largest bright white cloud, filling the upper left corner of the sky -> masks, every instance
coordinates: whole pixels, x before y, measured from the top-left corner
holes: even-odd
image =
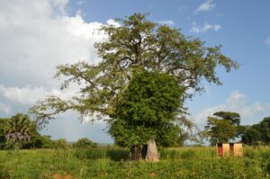
[[[15,3],[16,2],[16,3]],[[0,76],[2,85],[56,85],[59,64],[79,60],[97,62],[94,42],[100,22],[58,13],[67,1],[25,0],[0,2]]]

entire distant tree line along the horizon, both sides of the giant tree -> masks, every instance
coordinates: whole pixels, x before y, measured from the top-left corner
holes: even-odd
[[[208,117],[207,125],[200,135],[208,139],[211,145],[234,139],[247,145],[270,144],[270,116],[254,125],[240,125],[240,119],[238,112],[215,112]],[[184,130],[174,132],[174,135],[166,136],[174,141],[166,147],[183,146],[187,139],[198,142]],[[36,123],[23,113],[17,113],[11,118],[0,118],[0,149],[97,147],[97,143],[87,138],[68,144],[66,139],[52,140],[50,136],[40,135]]]

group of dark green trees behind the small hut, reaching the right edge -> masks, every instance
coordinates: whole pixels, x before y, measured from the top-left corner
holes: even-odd
[[[215,112],[202,131],[211,145],[234,139],[247,145],[270,144],[270,116],[254,125],[240,125],[237,112]]]

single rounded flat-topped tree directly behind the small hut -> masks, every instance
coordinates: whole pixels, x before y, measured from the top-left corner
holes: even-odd
[[[238,137],[240,115],[237,112],[215,112],[216,117],[208,117],[204,127],[205,134],[210,138],[211,145],[226,143]]]

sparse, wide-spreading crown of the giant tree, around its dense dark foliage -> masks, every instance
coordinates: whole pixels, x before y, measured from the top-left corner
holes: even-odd
[[[186,97],[192,96],[188,93],[189,89],[195,92],[202,91],[200,84],[202,79],[216,85],[221,84],[215,73],[216,67],[224,67],[226,72],[229,72],[231,68],[238,68],[237,62],[221,53],[220,46],[206,47],[202,40],[185,37],[178,29],[150,22],[144,14],[134,13],[115,21],[119,23],[119,26],[103,26],[100,31],[104,32],[107,38],[94,45],[99,58],[102,59],[101,62],[90,64],[83,61],[57,67],[55,77],[64,77],[61,89],[66,89],[70,84],[76,83],[81,87],[77,93],[79,95],[75,95],[69,101],[62,100],[58,96],[48,96],[45,100],[36,103],[30,112],[35,114],[39,123],[53,119],[55,114],[60,112],[75,110],[82,116],[94,115],[99,119],[105,119],[108,125],[111,125],[113,135],[114,126],[118,126],[119,123],[121,126],[126,126],[125,122],[127,122],[121,120],[122,116],[126,115],[119,109],[121,99],[127,100],[122,103],[128,103],[138,98],[138,96],[131,97],[134,92],[130,93],[129,87],[132,86],[130,82],[133,76],[139,71],[166,74],[174,78],[174,81],[168,80],[167,83],[176,83],[181,87],[183,102]],[[148,83],[154,83],[156,78],[151,80],[153,82]],[[166,96],[161,96],[161,98],[162,102]],[[178,100],[178,95],[175,100]],[[179,101],[179,103],[182,102]],[[150,100],[149,103],[153,102]],[[171,104],[167,105],[175,105],[173,101],[169,103]],[[182,111],[177,111],[180,114],[184,111],[183,105],[178,107],[182,108]],[[158,105],[152,108],[158,108]],[[127,109],[134,110],[135,106]],[[153,125],[157,125],[155,124],[157,119],[168,120],[174,117],[160,117],[158,116],[160,114],[153,113],[149,106],[145,109],[140,107],[139,110],[127,116],[134,118],[132,121],[136,121],[139,118],[145,119],[148,115],[147,123],[152,121]],[[143,132],[139,133],[137,128],[129,130],[134,132],[134,137],[135,134],[143,134]],[[167,129],[165,126],[160,126],[160,130]],[[149,132],[148,135],[154,134]],[[116,140],[121,141],[121,139]]]

